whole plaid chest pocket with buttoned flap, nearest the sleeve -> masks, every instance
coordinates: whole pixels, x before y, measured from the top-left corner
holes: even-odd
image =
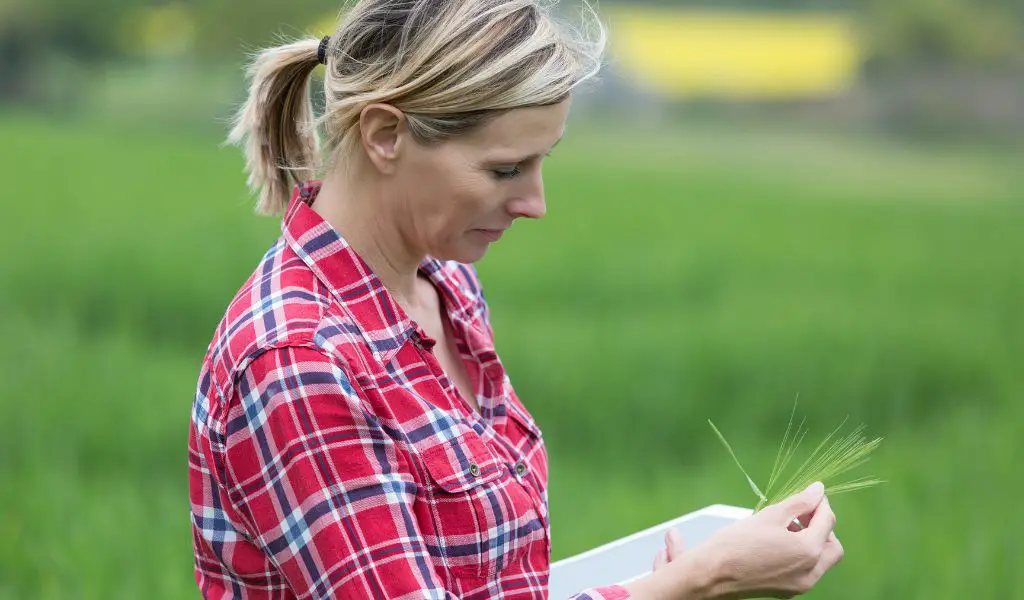
[[[460,577],[495,578],[544,540],[529,495],[512,469],[467,429],[421,453],[431,555]]]

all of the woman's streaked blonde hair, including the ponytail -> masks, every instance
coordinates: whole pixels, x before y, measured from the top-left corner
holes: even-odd
[[[243,148],[256,211],[275,214],[291,187],[345,156],[359,140],[359,115],[386,102],[423,143],[483,124],[500,112],[557,103],[597,75],[606,31],[558,22],[543,0],[360,0],[343,13],[326,48],[324,113],[315,119],[310,79],[319,39],[260,51],[249,97],[227,141]],[[585,15],[594,16],[588,4]],[[323,136],[323,148],[322,138]]]

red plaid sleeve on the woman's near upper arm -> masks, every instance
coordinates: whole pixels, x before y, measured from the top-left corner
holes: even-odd
[[[238,400],[228,492],[299,599],[454,597],[417,530],[408,459],[335,360],[303,347],[265,352]]]

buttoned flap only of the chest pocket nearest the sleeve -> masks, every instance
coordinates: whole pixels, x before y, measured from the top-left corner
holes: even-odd
[[[502,475],[499,461],[474,431],[423,451],[431,479],[449,494],[467,491]]]

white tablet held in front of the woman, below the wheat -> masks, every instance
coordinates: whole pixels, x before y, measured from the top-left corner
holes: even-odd
[[[654,556],[665,548],[670,527],[682,533],[686,548],[694,548],[721,527],[753,513],[716,504],[559,560],[551,565],[548,597],[564,600],[586,588],[625,584],[646,575]]]

